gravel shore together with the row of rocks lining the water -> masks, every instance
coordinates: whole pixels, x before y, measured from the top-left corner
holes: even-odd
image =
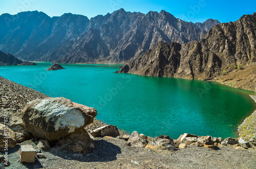
[[[28,102],[48,98],[45,94],[2,77],[0,77],[0,94],[1,114],[7,111],[10,115],[10,123],[13,124],[19,122],[18,118],[22,115],[22,109]],[[1,117],[1,123],[2,119]],[[92,133],[93,130],[105,125],[99,120],[94,120],[84,129]],[[38,140],[20,140],[15,148],[8,149],[10,165],[6,168],[65,168],[71,166],[72,168],[255,168],[256,166],[255,147],[248,150],[238,147],[237,139],[226,138],[222,141],[221,138],[184,134],[185,136],[181,135],[177,140],[173,140],[166,136],[150,138],[136,132],[130,136],[120,130],[119,134],[120,136],[116,138],[92,137],[95,147],[88,154],[75,153],[57,145],[51,145],[50,150],[42,151],[45,158],[36,158],[35,163],[20,163],[17,160],[20,146],[30,144],[38,149]],[[130,141],[127,141],[128,138]],[[156,144],[156,139],[169,142],[167,145],[172,145],[171,142],[174,142],[176,150],[170,151],[170,147],[173,146],[168,146],[166,150],[164,146],[152,145],[151,141]],[[251,142],[254,143],[254,140]],[[225,146],[225,143],[229,146]],[[186,148],[183,149],[183,146]],[[213,148],[215,150],[212,150]]]

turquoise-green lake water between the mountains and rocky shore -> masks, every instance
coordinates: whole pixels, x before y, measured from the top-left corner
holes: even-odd
[[[183,133],[235,137],[254,110],[247,90],[217,83],[115,74],[119,65],[0,66],[0,76],[51,97],[63,96],[98,111],[97,119],[148,136]]]

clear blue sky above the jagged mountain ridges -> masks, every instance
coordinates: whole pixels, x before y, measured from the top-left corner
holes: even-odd
[[[208,18],[221,22],[236,21],[244,14],[256,12],[255,0],[219,1],[219,0],[0,0],[0,15],[17,14],[21,11],[42,11],[49,16],[63,13],[81,14],[89,19],[97,15],[112,13],[120,8],[130,12],[147,13],[165,10],[185,21],[203,22]]]

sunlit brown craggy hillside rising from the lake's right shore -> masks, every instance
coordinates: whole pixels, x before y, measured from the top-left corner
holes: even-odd
[[[256,90],[256,13],[212,27],[200,41],[159,42],[118,72],[228,81]]]

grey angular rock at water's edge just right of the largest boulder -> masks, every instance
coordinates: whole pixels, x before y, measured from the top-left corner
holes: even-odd
[[[117,137],[119,136],[119,131],[116,126],[106,125],[93,130],[91,132],[91,135],[93,137],[104,137],[104,136]]]

